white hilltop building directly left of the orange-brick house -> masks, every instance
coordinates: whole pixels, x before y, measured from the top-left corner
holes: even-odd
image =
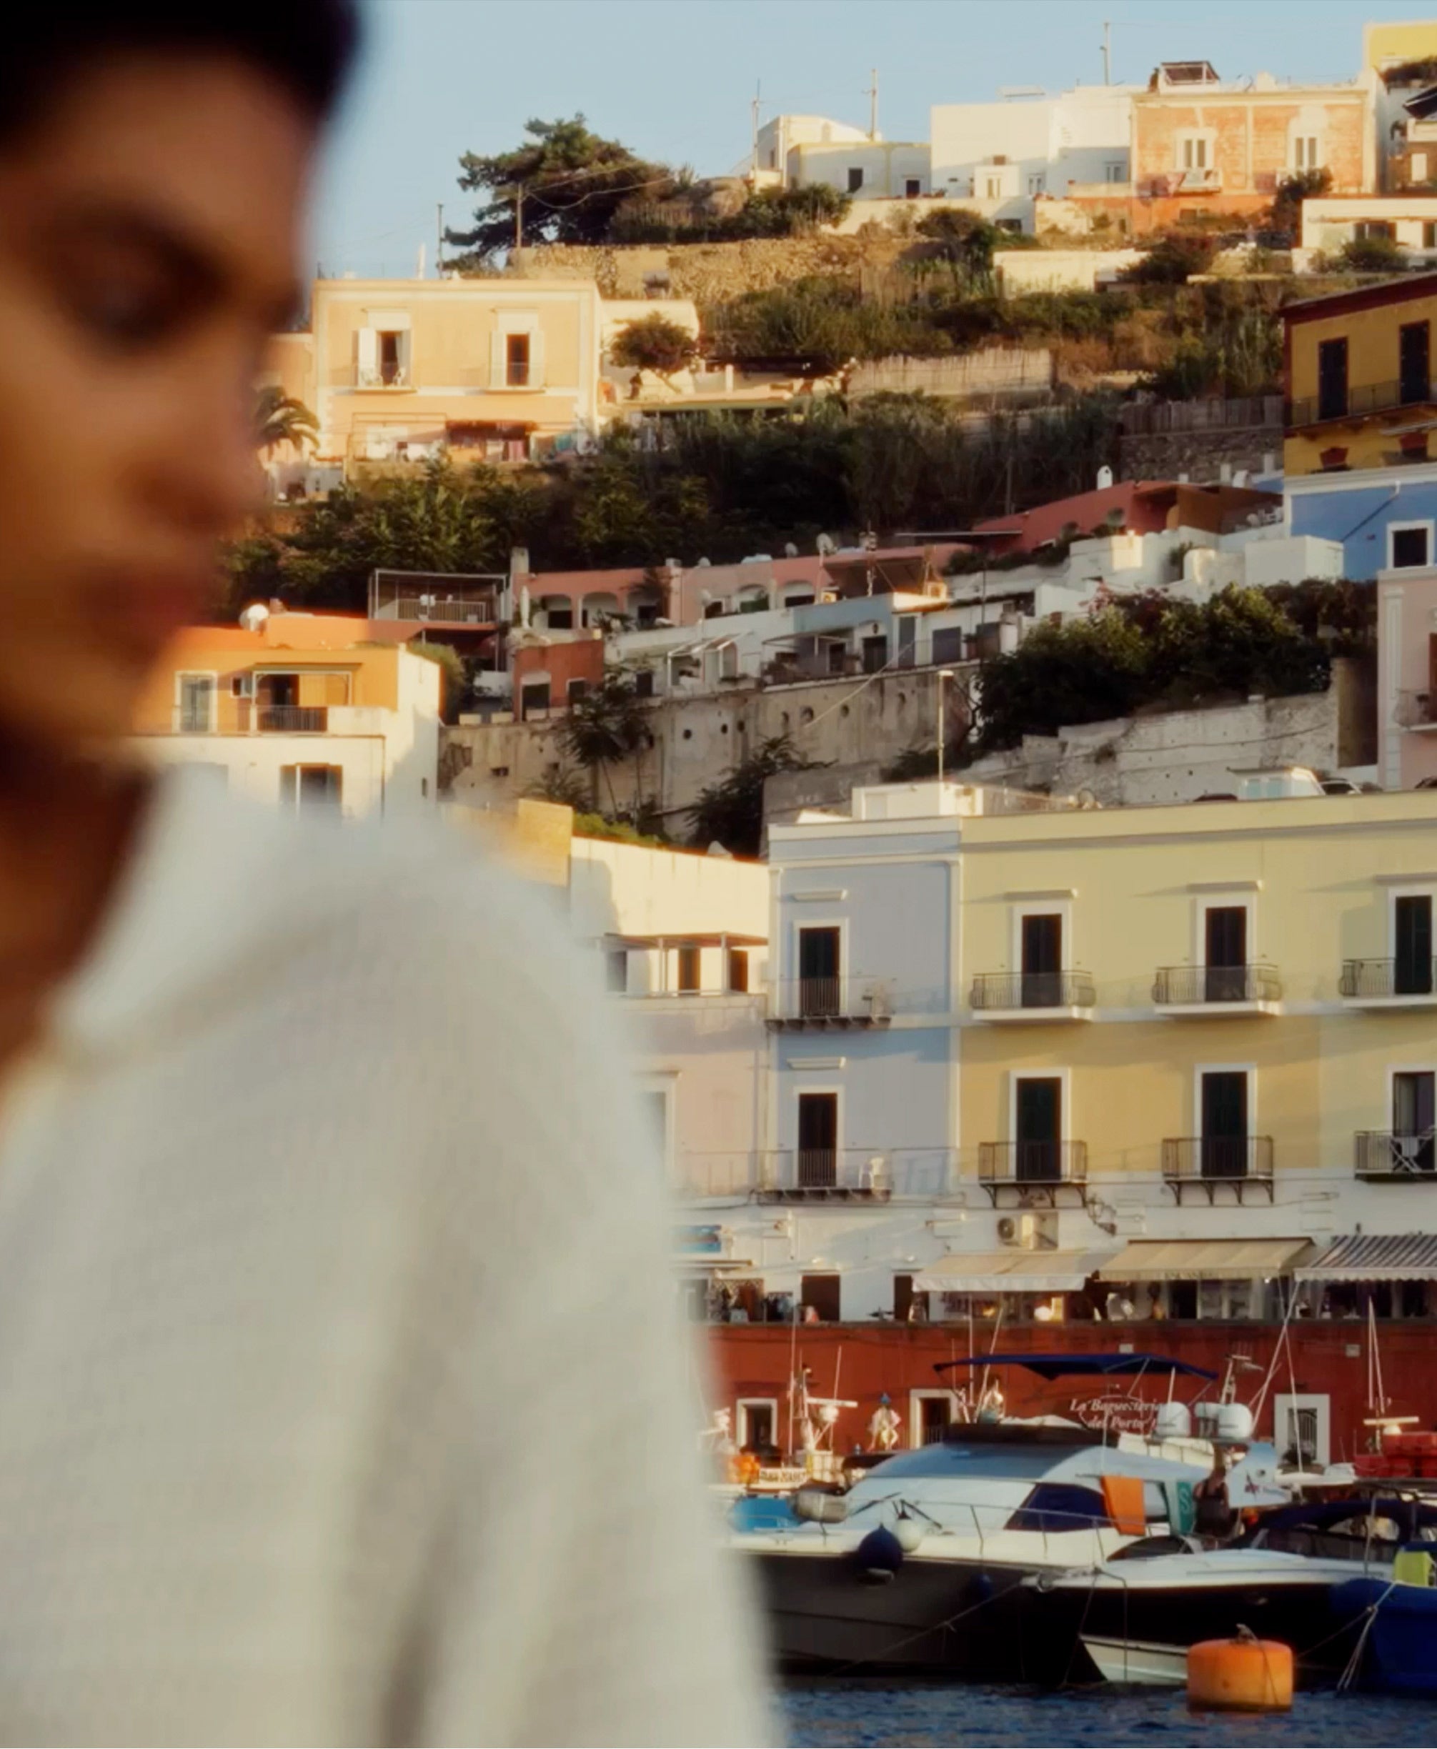
[[[996,103],[935,103],[933,192],[977,201],[1005,224],[1033,229],[1034,198],[1125,184],[1138,86],[1075,86],[1048,96],[1013,91]]]

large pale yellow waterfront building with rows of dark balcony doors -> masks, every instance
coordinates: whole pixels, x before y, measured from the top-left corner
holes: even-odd
[[[964,820],[959,1177],[1139,1240],[1430,1226],[1433,827],[1430,791]]]

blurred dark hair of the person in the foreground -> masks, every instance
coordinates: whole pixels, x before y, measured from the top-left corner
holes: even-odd
[[[5,26],[0,142],[112,54],[198,51],[271,75],[320,121],[359,45],[355,0],[37,0]]]

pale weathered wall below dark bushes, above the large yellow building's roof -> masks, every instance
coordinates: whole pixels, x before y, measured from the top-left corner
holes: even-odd
[[[1300,698],[1085,722],[1054,736],[1027,735],[1022,749],[989,754],[968,766],[963,778],[1066,796],[1087,791],[1104,806],[1195,801],[1232,792],[1234,770],[1278,764],[1337,770],[1344,763],[1339,750],[1363,750],[1360,742],[1344,743],[1342,700],[1344,693],[1334,686]],[[1362,700],[1351,700],[1349,710],[1360,712]]]

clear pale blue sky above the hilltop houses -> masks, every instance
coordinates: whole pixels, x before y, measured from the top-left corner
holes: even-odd
[[[998,86],[1113,79],[1209,59],[1223,77],[1349,79],[1365,17],[1426,5],[1360,0],[368,0],[369,44],[317,189],[312,250],[326,273],[411,275],[434,264],[473,201],[460,152],[502,152],[525,121],[583,110],[662,163],[723,175],[744,159],[749,105],[863,124],[879,70],[879,128],[926,140],[931,103]]]

